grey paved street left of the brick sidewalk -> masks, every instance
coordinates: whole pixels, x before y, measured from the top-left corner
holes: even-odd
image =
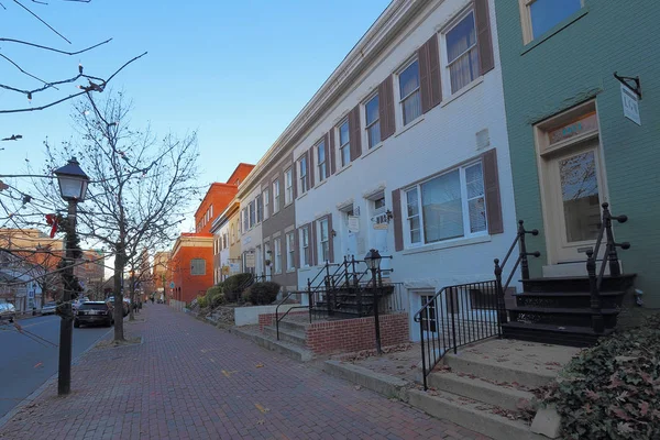
[[[59,343],[59,321],[50,315],[19,320],[28,332]],[[74,359],[108,332],[108,328],[74,329]],[[58,348],[19,333],[13,324],[0,324],[0,418],[57,373]]]

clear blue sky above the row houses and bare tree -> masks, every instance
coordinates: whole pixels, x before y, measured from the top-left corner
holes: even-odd
[[[25,70],[53,81],[77,74],[107,77],[124,62],[146,57],[112,82],[133,99],[133,125],[151,122],[158,134],[198,130],[200,183],[226,180],[239,162],[256,163],[353,45],[388,0],[50,0],[21,2],[73,42],[67,44],[12,0],[1,0],[0,37],[75,51],[103,41],[106,46],[76,56],[0,43],[0,53]],[[0,82],[35,88],[38,82],[0,59]],[[36,107],[76,92],[63,86],[35,95]],[[29,106],[0,89],[0,109]],[[70,105],[14,116],[0,114],[0,174],[22,172],[25,158],[42,163],[46,136],[74,134]]]

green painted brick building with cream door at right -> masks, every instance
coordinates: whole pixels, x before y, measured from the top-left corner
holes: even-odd
[[[623,272],[660,308],[660,2],[495,4],[516,213],[541,231],[531,276],[585,275],[607,201],[628,216]],[[615,73],[639,77],[637,103]]]

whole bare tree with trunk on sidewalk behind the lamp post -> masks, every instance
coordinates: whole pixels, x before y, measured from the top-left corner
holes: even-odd
[[[161,248],[175,238],[189,200],[199,194],[197,135],[157,140],[148,130],[130,127],[131,103],[123,94],[112,94],[99,105],[90,94],[87,98],[75,105],[79,140],[46,142],[44,174],[75,155],[91,179],[78,211],[78,233],[82,240],[102,242],[114,255],[114,340],[121,341],[125,270],[144,248]],[[42,194],[57,194],[53,179],[42,182]]]

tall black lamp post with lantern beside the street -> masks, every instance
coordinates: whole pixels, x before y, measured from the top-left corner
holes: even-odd
[[[76,234],[76,212],[78,202],[85,200],[89,177],[80,169],[76,157],[53,172],[59,183],[59,195],[68,202],[68,218],[66,230],[66,256],[67,267],[63,271],[64,293],[62,296],[62,322],[59,323],[59,371],[57,377],[57,394],[67,395],[72,388],[72,344],[74,314],[72,310],[72,287],[74,279],[74,249],[72,240]]]

